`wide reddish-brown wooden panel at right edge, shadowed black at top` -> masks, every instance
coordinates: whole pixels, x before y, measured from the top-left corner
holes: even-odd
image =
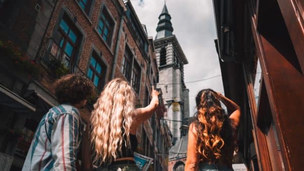
[[[299,136],[299,130],[304,129],[304,77],[299,56],[277,2],[260,2],[259,10],[257,31],[263,47],[260,61],[285,169],[301,170],[304,137]]]

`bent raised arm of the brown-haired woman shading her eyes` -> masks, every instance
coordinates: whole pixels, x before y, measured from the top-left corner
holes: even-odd
[[[217,94],[219,96],[220,101],[223,102],[223,104],[227,107],[227,109],[232,111],[229,118],[231,118],[234,121],[234,123],[236,124],[236,126],[238,126],[239,122],[240,122],[240,117],[241,117],[240,106],[237,105],[234,101],[226,98],[222,94],[220,94],[220,93],[217,93]]]

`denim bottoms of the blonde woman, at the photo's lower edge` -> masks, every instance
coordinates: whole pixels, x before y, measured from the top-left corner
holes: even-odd
[[[108,166],[101,166],[96,171],[140,171],[135,163],[112,163]]]

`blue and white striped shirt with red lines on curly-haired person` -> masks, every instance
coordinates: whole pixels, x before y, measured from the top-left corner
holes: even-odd
[[[41,119],[22,170],[76,170],[85,125],[71,105],[51,108]]]

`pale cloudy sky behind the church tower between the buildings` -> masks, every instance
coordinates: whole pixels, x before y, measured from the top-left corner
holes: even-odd
[[[156,36],[158,17],[164,7],[164,0],[131,0],[142,24],[146,25],[148,36]],[[195,113],[195,96],[202,89],[213,89],[223,94],[219,60],[215,49],[215,20],[212,1],[167,0],[171,15],[173,34],[188,60],[184,65],[184,81],[189,89],[190,115]],[[214,77],[216,76],[216,77]]]

